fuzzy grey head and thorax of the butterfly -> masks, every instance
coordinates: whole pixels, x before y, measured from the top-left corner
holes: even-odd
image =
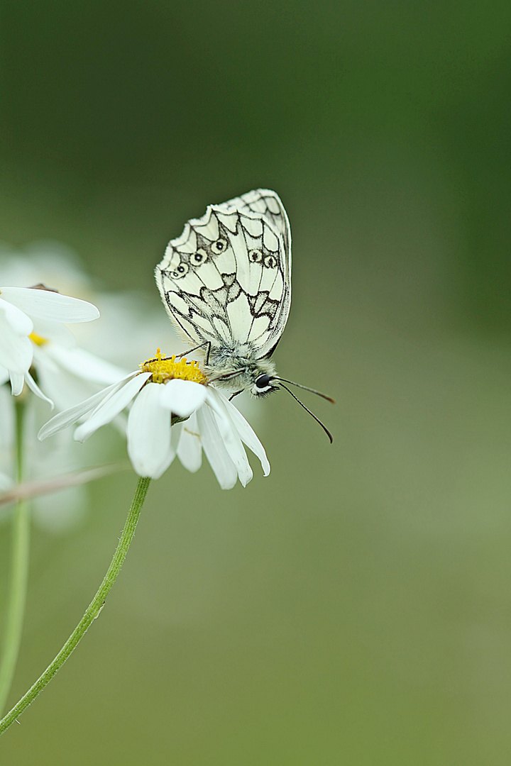
[[[211,348],[205,374],[215,385],[250,391],[254,396],[277,390],[270,380],[275,375],[274,362],[270,358],[257,359],[255,349],[247,343]]]

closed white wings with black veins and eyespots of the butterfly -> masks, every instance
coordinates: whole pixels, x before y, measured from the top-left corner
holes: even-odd
[[[263,208],[263,209],[254,209]],[[250,191],[185,224],[156,267],[156,282],[182,334],[213,347],[266,356],[290,309],[290,227],[274,191]]]

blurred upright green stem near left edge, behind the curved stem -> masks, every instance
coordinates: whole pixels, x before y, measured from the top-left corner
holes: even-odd
[[[23,419],[25,401],[16,399],[16,478],[23,479]],[[25,500],[19,500],[12,519],[11,571],[5,615],[4,646],[0,661],[0,715],[5,708],[8,693],[18,662],[21,633],[27,602],[28,561],[30,554],[30,509]]]

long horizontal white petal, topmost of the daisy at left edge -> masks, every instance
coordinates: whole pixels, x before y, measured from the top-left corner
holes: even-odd
[[[90,322],[100,312],[86,300],[71,298],[50,290],[35,290],[33,287],[2,287],[2,296],[28,316],[51,319],[52,322]]]

